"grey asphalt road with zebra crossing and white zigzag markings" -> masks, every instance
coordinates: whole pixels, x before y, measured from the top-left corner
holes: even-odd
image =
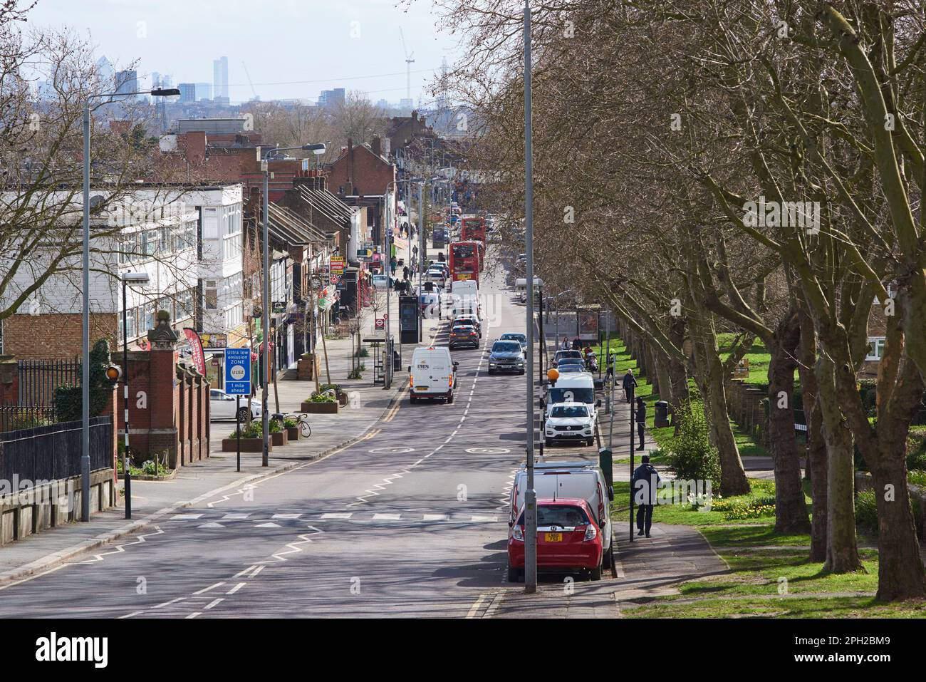
[[[348,448],[0,587],[0,616],[462,617],[519,590],[504,583],[506,503],[525,379],[490,377],[484,349],[525,312],[501,275],[482,289],[488,328],[482,348],[454,351],[454,404],[406,390]]]

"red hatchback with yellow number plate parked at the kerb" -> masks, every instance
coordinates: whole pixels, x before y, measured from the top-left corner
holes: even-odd
[[[601,580],[601,529],[584,499],[537,500],[537,568],[585,569]],[[524,508],[508,535],[508,582],[524,577]]]

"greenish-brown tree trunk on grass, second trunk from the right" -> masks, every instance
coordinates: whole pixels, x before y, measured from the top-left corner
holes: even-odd
[[[858,558],[855,512],[855,462],[852,433],[843,423],[843,413],[836,396],[832,360],[821,356],[817,361],[823,437],[827,450],[827,526],[826,562],[830,573],[853,573],[864,570]]]

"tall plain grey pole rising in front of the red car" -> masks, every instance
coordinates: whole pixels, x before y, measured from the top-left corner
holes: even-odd
[[[524,249],[533,297],[533,168],[531,141],[531,2],[524,0]],[[527,307],[527,489],[524,491],[524,591],[537,591],[537,491],[533,488],[533,300]]]

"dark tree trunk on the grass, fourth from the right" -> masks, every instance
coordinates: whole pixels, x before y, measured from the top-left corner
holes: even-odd
[[[778,325],[769,350],[769,447],[775,470],[775,532],[807,533],[810,521],[797,459],[795,410],[795,348],[800,322],[793,309]]]

